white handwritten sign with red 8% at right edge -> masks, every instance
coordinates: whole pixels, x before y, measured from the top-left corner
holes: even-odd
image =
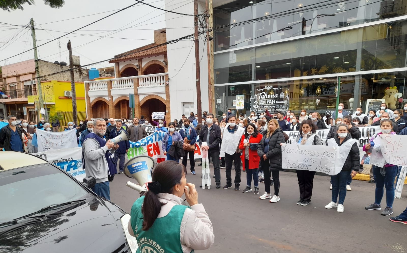
[[[381,134],[380,142],[382,155],[388,164],[407,166],[407,135]]]

